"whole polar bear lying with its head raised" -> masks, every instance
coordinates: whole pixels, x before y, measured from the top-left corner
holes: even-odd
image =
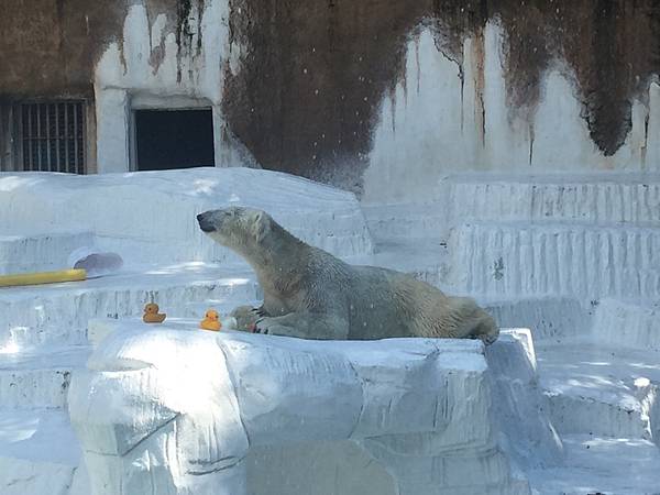
[[[353,266],[314,248],[266,212],[231,207],[197,216],[200,229],[243,256],[263,288],[258,309],[233,311],[243,330],[304,339],[471,338],[499,330],[469,298],[449,297],[415,277]]]

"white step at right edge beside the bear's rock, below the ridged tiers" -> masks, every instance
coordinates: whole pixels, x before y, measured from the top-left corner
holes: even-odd
[[[660,444],[660,352],[584,338],[540,341],[536,350],[540,384],[560,435]]]

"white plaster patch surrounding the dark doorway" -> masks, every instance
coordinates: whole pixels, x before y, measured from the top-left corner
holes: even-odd
[[[180,47],[176,34],[165,30],[167,23],[175,22],[164,13],[150,19],[143,4],[132,4],[123,35],[108,45],[95,68],[97,161],[101,173],[129,172],[135,108],[145,108],[145,101],[151,108],[178,108],[177,99],[193,102],[189,107],[212,109],[216,165],[254,164],[222,113],[226,70],[238,70],[235,58],[241,48],[233,45],[230,50],[229,2],[191,3],[188,19],[182,22],[188,22],[194,32],[182,36]]]

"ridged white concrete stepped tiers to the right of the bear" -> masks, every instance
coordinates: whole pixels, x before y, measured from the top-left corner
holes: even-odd
[[[532,488],[660,493],[660,176],[457,175],[438,197],[366,209],[376,252],[435,244],[426,279],[534,329],[565,460]]]

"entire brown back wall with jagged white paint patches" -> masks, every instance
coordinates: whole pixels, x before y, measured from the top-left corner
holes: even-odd
[[[370,200],[419,199],[452,170],[660,168],[654,0],[3,8],[0,98],[94,95],[101,169],[124,166],[130,122],[112,108],[136,97],[211,105],[219,163]]]

